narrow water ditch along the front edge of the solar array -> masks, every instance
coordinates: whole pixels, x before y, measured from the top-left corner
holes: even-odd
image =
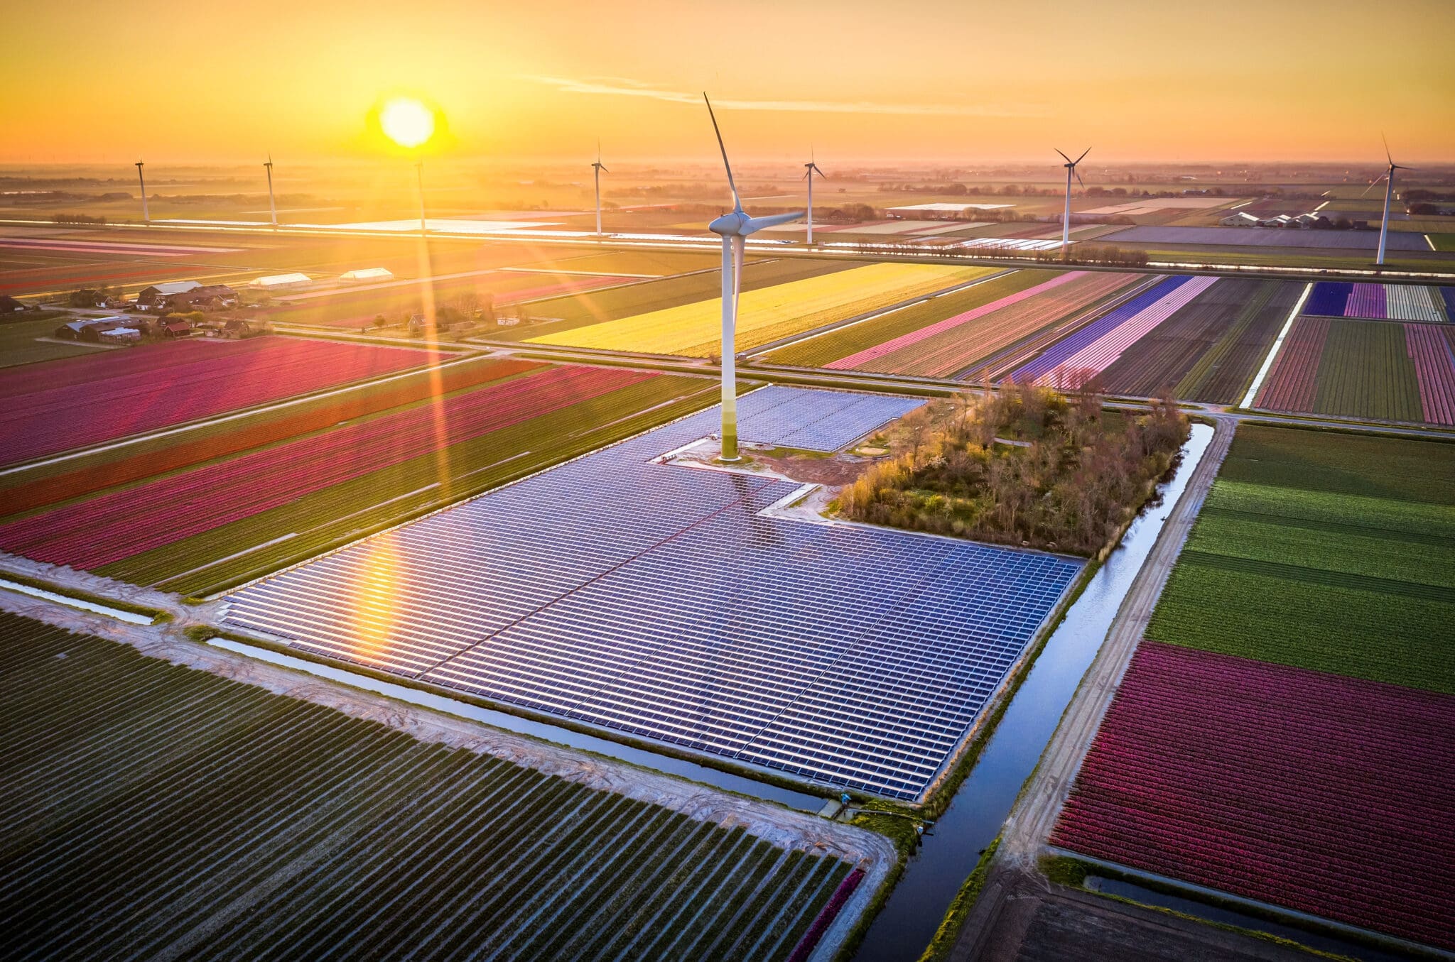
[[[672,759],[655,751],[647,751],[646,748],[633,748],[631,745],[624,745],[608,738],[597,738],[595,735],[570,731],[569,728],[559,728],[546,722],[519,718],[518,715],[498,712],[490,708],[480,708],[479,705],[470,705],[469,702],[461,702],[444,695],[434,695],[432,692],[422,692],[404,684],[381,682],[378,679],[371,679],[367,674],[356,674],[348,668],[336,668],[329,664],[295,658],[279,651],[272,651],[271,648],[246,645],[230,638],[212,638],[208,644],[226,648],[240,655],[247,655],[249,658],[258,658],[259,661],[268,661],[295,671],[304,671],[320,679],[329,679],[330,682],[340,682],[356,689],[364,689],[365,692],[387,695],[388,698],[399,699],[400,702],[409,702],[410,705],[419,705],[420,708],[429,708],[457,718],[469,718],[495,728],[503,728],[505,731],[533,735],[541,741],[551,741],[557,745],[569,745],[583,751],[594,751],[601,756],[639,764],[643,769],[653,769],[656,772],[665,772],[666,775],[675,775],[693,782],[714,785],[720,789],[736,792],[738,795],[751,795],[754,798],[778,802],[780,805],[805,812],[816,812],[824,808],[825,799],[822,795],[809,795],[808,792],[794,792],[793,789],[780,788],[777,785],[767,785],[744,775],[720,772],[717,769],[697,764],[695,761],[687,761],[685,759]]]

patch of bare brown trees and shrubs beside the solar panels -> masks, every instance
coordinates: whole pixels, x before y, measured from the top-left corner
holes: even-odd
[[[1187,419],[1164,398],[1145,416],[1072,395],[1002,385],[984,400],[934,401],[890,433],[893,456],[840,493],[854,520],[1094,555],[1167,474]]]

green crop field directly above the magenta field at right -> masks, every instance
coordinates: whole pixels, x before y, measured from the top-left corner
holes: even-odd
[[[1455,445],[1238,429],[1147,636],[1455,693]]]

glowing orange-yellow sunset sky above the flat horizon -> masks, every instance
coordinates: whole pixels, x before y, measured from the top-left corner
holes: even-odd
[[[223,13],[226,10],[226,13]],[[1455,1],[15,4],[0,161],[361,157],[439,105],[448,151],[745,160],[1455,161]],[[55,51],[64,51],[60,60]]]

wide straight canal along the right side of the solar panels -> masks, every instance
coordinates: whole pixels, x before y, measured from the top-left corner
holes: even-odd
[[[1160,488],[1161,501],[1132,522],[1122,545],[1091,577],[1065,621],[1051,635],[1024,684],[1011,699],[979,763],[949,809],[909,859],[899,885],[854,955],[861,962],[914,962],[975,869],[1036,767],[1081,676],[1106,641],[1122,599],[1141,571],[1171,506],[1212,442],[1212,427],[1193,424],[1177,474]]]

